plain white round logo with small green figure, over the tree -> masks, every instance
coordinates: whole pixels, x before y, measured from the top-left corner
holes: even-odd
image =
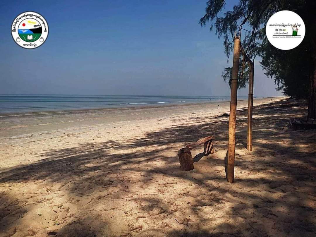
[[[270,17],[265,33],[274,47],[289,50],[301,44],[305,36],[305,24],[295,12],[279,11]]]

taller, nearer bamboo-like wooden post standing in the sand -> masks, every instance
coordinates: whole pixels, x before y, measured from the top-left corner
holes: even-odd
[[[230,183],[234,183],[234,172],[235,172],[235,132],[236,132],[237,82],[238,82],[238,71],[239,71],[239,55],[240,55],[240,37],[235,36],[232,83],[231,83],[231,93],[230,93],[229,133],[228,133],[227,180]]]

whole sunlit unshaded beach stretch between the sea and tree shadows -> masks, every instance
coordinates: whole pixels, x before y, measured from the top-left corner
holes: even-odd
[[[274,102],[282,103],[285,99],[286,97],[254,99],[254,111],[256,111],[256,106]],[[31,148],[35,145],[35,150],[49,150],[96,140],[124,140],[131,136],[135,137],[137,134],[160,130],[166,126],[195,123],[203,118],[205,122],[216,120],[223,113],[229,113],[230,101],[220,103],[219,109],[217,105],[218,103],[197,103],[142,106],[0,117],[0,148],[3,148],[3,151],[7,148],[11,150],[7,153],[1,152],[0,149],[0,157],[3,156],[5,159],[5,157],[9,158],[8,155],[21,156],[26,152],[19,152],[23,150],[23,146]],[[246,110],[247,106],[248,100],[240,100],[237,103],[237,117],[240,117],[240,111]],[[228,117],[222,119],[225,120]],[[13,163],[15,162],[17,161]],[[24,162],[19,161],[19,163]]]

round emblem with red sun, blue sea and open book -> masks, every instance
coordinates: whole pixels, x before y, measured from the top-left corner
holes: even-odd
[[[37,12],[23,12],[12,22],[11,35],[15,43],[25,49],[35,49],[44,44],[48,36],[48,24]]]

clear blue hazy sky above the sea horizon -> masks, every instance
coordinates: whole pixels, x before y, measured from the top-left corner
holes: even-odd
[[[221,75],[232,61],[222,39],[198,25],[205,6],[206,0],[1,1],[0,93],[229,95]],[[12,21],[24,11],[48,22],[48,39],[37,49],[11,37]],[[255,64],[254,96],[282,95]]]

